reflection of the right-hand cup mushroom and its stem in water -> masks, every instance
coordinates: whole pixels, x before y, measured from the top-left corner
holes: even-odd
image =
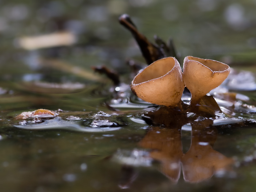
[[[185,181],[198,183],[209,179],[219,171],[231,170],[233,159],[215,151],[212,147],[217,132],[211,127],[212,120],[191,123],[191,146],[181,159]]]

